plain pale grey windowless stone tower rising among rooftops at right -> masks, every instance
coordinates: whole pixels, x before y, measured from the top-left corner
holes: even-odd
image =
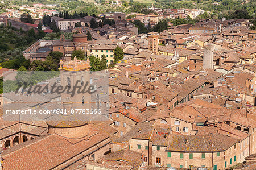
[[[213,45],[207,45],[204,47],[204,59],[203,59],[203,68],[210,68],[213,69],[213,52],[214,52],[214,46]]]

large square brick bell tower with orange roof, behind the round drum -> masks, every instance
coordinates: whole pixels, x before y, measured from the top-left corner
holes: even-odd
[[[66,90],[61,93],[63,107],[68,102],[67,110],[90,108],[90,61],[89,59],[71,61],[60,60],[61,86]],[[63,89],[64,90],[64,89]]]

